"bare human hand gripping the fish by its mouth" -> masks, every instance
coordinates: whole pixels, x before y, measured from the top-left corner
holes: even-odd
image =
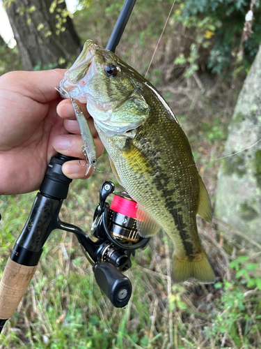
[[[16,71],[0,77],[0,194],[28,193],[40,188],[56,151],[84,158],[72,105],[68,100],[61,101],[54,89],[64,73],[62,69]],[[87,116],[86,105],[80,106]],[[97,133],[90,120],[95,138]],[[62,140],[68,140],[67,149]],[[95,138],[95,144],[100,156],[102,142]],[[91,171],[87,176],[85,172],[86,167],[78,161],[63,165],[63,173],[72,179],[89,177]]]

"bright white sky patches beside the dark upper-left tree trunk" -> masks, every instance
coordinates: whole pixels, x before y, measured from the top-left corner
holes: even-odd
[[[67,8],[71,13],[74,13],[75,8],[77,7],[77,0],[65,0],[67,3]],[[3,9],[2,0],[0,0],[0,35],[3,40],[8,43],[10,47],[15,46],[15,39],[13,30],[10,26],[10,22],[8,20],[8,15],[6,15],[6,11]]]

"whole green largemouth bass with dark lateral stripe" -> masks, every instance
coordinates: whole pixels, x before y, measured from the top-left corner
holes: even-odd
[[[173,282],[213,283],[196,225],[196,214],[212,221],[211,203],[189,141],[164,98],[116,54],[91,40],[61,87],[87,103],[114,174],[138,202],[140,235],[163,228],[173,240]]]

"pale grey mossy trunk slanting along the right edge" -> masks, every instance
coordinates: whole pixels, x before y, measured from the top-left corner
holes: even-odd
[[[239,94],[224,155],[248,149],[223,159],[215,200],[215,216],[259,243],[261,243],[260,91],[261,45]]]

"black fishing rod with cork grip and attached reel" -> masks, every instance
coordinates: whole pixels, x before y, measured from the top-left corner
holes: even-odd
[[[135,3],[136,0],[125,1],[107,50],[115,52]],[[100,188],[100,202],[90,231],[95,240],[76,225],[61,221],[59,212],[72,182],[63,174],[62,166],[72,159],[62,154],[51,159],[29,217],[8,258],[0,282],[0,333],[15,313],[33,278],[42,248],[55,229],[77,236],[86,258],[93,265],[97,284],[114,306],[126,306],[132,295],[132,283],[122,272],[132,266],[130,256],[134,251],[145,248],[149,242],[149,238],[139,236],[136,228],[136,202],[125,192],[115,193],[114,184],[105,181]],[[114,195],[111,207],[106,202],[109,195]]]

